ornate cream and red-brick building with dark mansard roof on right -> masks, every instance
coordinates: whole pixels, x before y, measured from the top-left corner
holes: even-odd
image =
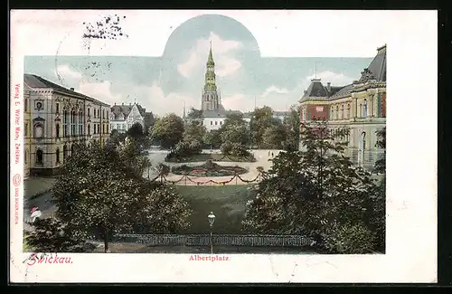
[[[299,100],[302,122],[327,120],[328,128],[349,128],[346,153],[353,163],[372,169],[383,150],[375,146],[377,130],[386,126],[386,45],[362,72],[359,81],[332,87],[311,81]]]

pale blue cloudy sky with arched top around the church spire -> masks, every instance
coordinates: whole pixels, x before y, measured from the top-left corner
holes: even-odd
[[[143,37],[152,42],[152,32]],[[303,40],[303,29],[294,37],[315,46]],[[210,41],[222,103],[242,111],[253,109],[255,98],[258,107],[277,110],[296,104],[314,77],[315,63],[317,78],[340,86],[358,80],[373,58],[261,58],[247,28],[229,17],[207,14],[179,26],[161,57],[26,56],[24,71],[112,105],[137,100],[157,115],[181,115],[184,103],[200,107]]]

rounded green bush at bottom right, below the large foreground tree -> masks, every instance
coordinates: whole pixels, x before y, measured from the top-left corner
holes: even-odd
[[[363,223],[345,224],[327,232],[325,248],[343,254],[365,254],[372,252],[375,236]]]

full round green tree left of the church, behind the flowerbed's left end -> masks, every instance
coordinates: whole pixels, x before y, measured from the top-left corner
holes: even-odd
[[[161,147],[174,148],[184,136],[184,121],[171,113],[155,121],[150,135],[151,139],[159,142]]]

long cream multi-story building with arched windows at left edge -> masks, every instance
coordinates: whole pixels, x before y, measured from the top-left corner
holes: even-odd
[[[24,175],[55,175],[76,144],[105,144],[109,105],[24,74]]]

